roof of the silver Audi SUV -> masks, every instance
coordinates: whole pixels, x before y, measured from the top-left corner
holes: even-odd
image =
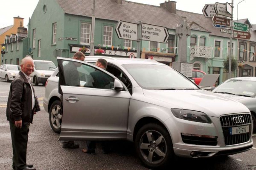
[[[113,58],[107,56],[86,56],[84,61],[97,61],[99,58],[103,58],[109,63],[115,64],[156,64],[156,65],[165,65],[154,60],[142,59],[142,58]]]

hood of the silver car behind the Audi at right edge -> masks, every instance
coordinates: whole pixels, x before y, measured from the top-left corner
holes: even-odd
[[[241,104],[244,104],[246,107],[248,107],[250,111],[256,112],[256,104],[255,104],[256,98],[239,96],[239,95],[230,95],[230,94],[219,94],[219,95],[238,101]]]

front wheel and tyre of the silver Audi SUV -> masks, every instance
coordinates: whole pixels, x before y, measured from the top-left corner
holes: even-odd
[[[146,124],[135,138],[135,148],[142,163],[151,169],[166,168],[175,158],[172,139],[159,124]]]

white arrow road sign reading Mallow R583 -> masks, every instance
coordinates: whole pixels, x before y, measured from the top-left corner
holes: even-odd
[[[118,21],[116,34],[121,39],[137,41],[137,24]]]

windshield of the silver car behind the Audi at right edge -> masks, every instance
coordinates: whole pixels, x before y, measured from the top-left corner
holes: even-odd
[[[212,92],[255,97],[256,82],[248,80],[227,80]]]

